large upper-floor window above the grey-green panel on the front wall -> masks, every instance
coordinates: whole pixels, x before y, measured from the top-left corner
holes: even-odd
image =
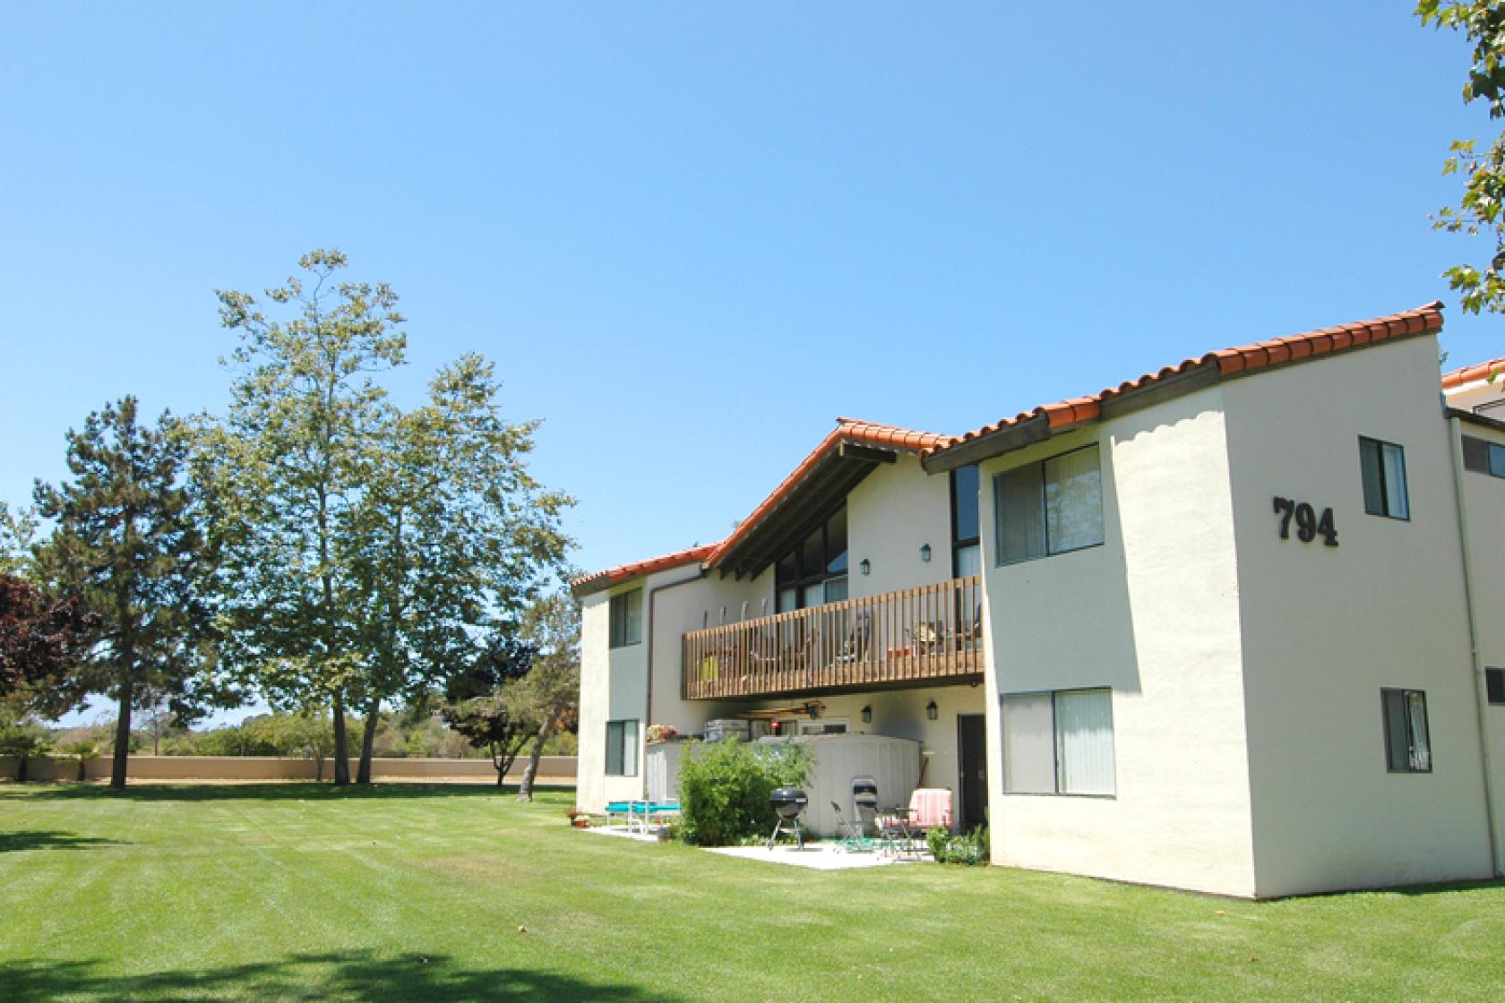
[[[1096,444],[999,474],[993,495],[999,564],[1103,541],[1103,477]]]

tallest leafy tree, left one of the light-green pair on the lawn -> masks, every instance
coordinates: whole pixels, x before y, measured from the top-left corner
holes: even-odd
[[[239,334],[223,424],[202,426],[197,453],[217,499],[226,656],[284,708],[328,705],[334,780],[349,783],[346,708],[367,668],[357,636],[352,558],[357,507],[370,484],[387,414],[373,376],[402,365],[406,337],[387,284],[336,281],[345,254],[318,250],[266,298],[221,290],[221,323]]]

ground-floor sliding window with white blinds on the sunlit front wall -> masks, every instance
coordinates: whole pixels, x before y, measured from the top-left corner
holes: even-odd
[[[1002,698],[1004,792],[1112,795],[1112,690]]]

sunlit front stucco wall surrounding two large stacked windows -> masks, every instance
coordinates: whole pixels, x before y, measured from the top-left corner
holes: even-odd
[[[993,475],[1097,441],[1103,546],[998,567]],[[993,859],[1252,895],[1219,392],[983,465]],[[1112,687],[1114,797],[1005,795],[999,693]]]

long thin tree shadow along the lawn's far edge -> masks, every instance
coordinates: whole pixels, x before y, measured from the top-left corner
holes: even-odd
[[[515,800],[518,786],[495,783],[370,783],[336,786],[312,780],[281,780],[272,783],[134,783],[123,791],[113,791],[102,783],[47,783],[27,785],[29,800],[131,800],[131,801],[339,801],[339,800],[388,800],[400,801],[418,797],[494,797]],[[573,792],[572,786],[534,786],[537,800],[548,803],[551,794]]]

